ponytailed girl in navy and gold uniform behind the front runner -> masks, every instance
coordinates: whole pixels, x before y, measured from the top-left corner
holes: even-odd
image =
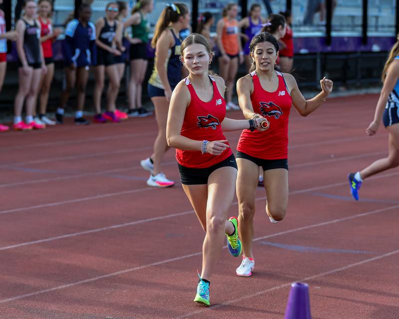
[[[155,26],[151,45],[155,47],[154,70],[148,81],[148,94],[155,107],[158,124],[158,135],[154,143],[154,153],[142,160],[141,166],[151,172],[147,185],[155,187],[171,187],[173,180],[166,178],[161,171],[162,159],[169,150],[166,141],[166,120],[172,91],[182,79],[182,62],[180,61],[180,45],[182,39],[179,32],[188,27],[190,12],[186,4],[172,3],[161,13]]]

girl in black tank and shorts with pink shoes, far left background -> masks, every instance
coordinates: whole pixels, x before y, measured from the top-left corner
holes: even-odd
[[[16,22],[16,49],[18,52],[18,93],[14,100],[14,125],[16,131],[45,129],[45,125],[33,120],[40,77],[47,68],[40,45],[40,24],[36,20],[37,5],[28,0],[23,6],[24,14]],[[22,121],[22,107],[26,105],[26,120]]]

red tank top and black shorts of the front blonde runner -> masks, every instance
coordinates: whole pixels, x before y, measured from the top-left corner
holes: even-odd
[[[215,80],[210,76],[209,79],[213,86],[213,97],[209,102],[200,100],[190,80],[185,80],[191,101],[186,109],[181,135],[191,140],[212,142],[226,139],[221,129],[221,123],[226,116],[226,102],[220,95]],[[207,184],[210,173],[215,169],[223,166],[237,167],[230,148],[217,156],[176,149],[176,159],[182,184],[187,185]]]

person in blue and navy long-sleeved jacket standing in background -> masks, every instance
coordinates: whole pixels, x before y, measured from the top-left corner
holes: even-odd
[[[78,13],[79,18],[71,20],[65,30],[63,55],[66,85],[61,93],[60,105],[55,114],[57,124],[63,124],[65,105],[75,85],[77,88],[77,111],[74,122],[76,125],[89,124],[89,121],[83,118],[83,108],[89,69],[91,65],[96,65],[96,28],[90,22],[90,5],[81,4]]]

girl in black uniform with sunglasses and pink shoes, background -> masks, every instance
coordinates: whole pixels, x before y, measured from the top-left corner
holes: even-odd
[[[127,118],[127,114],[116,108],[116,98],[119,92],[119,73],[115,65],[115,56],[121,56],[122,53],[115,48],[115,34],[118,28],[116,16],[119,6],[116,2],[109,2],[105,8],[105,16],[96,21],[96,46],[97,46],[97,64],[94,68],[95,87],[94,87],[94,107],[96,115],[95,123],[105,123],[111,121],[120,122]],[[109,79],[107,89],[107,111],[101,112],[101,95],[104,89],[104,77],[107,74]]]

